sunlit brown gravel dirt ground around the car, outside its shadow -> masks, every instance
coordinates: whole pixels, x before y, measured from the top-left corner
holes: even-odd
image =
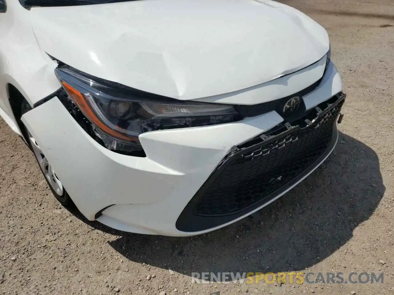
[[[65,210],[1,121],[1,294],[394,294],[394,2],[284,2],[328,30],[348,94],[325,164],[255,219],[191,238],[142,236]],[[383,272],[384,282],[193,284],[204,271]]]

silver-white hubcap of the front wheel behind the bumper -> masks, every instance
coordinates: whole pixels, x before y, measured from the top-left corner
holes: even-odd
[[[56,194],[60,196],[63,195],[63,184],[61,184],[60,180],[56,176],[55,171],[53,170],[52,166],[49,164],[48,160],[43,154],[41,147],[39,147],[39,145],[37,144],[37,142],[35,141],[35,139],[30,134],[29,131],[28,134],[29,134],[30,144],[32,145],[33,148],[33,153],[37,158],[38,164],[40,165],[40,168],[43,171],[46,180],[48,180],[49,185],[56,192]]]

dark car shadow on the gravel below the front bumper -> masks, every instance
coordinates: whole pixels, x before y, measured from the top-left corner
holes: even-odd
[[[355,227],[370,218],[384,192],[376,153],[340,133],[320,168],[254,218],[201,236],[121,233],[109,243],[131,261],[185,275],[302,270],[344,245]]]

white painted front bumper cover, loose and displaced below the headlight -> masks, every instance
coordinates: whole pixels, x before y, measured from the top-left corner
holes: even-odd
[[[331,63],[321,85],[303,100],[310,109],[340,91],[341,79]],[[332,151],[282,194],[245,216],[201,232],[182,232],[175,227],[178,216],[229,149],[281,123],[277,112],[230,124],[144,133],[139,138],[146,158],[100,146],[56,97],[24,114],[22,121],[86,218],[94,220],[102,211],[98,221],[142,234],[189,236],[226,226],[279,198]]]

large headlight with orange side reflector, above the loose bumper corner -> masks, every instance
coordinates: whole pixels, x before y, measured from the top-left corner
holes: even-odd
[[[108,149],[141,151],[138,135],[162,129],[206,126],[241,119],[231,105],[181,101],[83,74],[55,70],[69,98]]]

